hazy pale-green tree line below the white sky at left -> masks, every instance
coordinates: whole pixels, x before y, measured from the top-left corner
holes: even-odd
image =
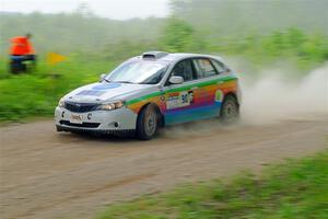
[[[159,38],[164,19],[149,18],[116,21],[84,16],[80,13],[3,14],[0,12],[0,58],[5,56],[9,38],[16,35],[33,34],[33,43],[40,55],[55,51],[103,54],[113,45],[121,46],[122,41],[133,43],[154,42]],[[109,47],[110,46],[110,47]]]

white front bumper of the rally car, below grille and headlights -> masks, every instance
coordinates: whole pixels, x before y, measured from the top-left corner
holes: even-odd
[[[59,106],[55,110],[57,130],[70,131],[112,134],[134,130],[137,116],[136,113],[127,107],[114,111],[92,111],[86,113],[73,113]]]

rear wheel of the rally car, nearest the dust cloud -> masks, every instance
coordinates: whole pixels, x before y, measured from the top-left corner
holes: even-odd
[[[234,95],[227,95],[224,97],[221,111],[220,119],[224,124],[233,124],[239,118],[239,104]]]

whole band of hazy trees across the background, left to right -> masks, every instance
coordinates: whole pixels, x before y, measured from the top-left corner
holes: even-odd
[[[5,56],[8,39],[26,32],[33,34],[40,55],[79,51],[90,55],[110,53],[110,56],[117,50],[128,53],[129,49],[122,49],[126,43],[142,48],[203,51],[222,39],[243,41],[249,35],[263,37],[272,32],[285,32],[291,26],[305,35],[328,35],[326,0],[265,3],[262,0],[172,0],[174,19],[128,21],[97,18],[81,5],[82,9],[74,13],[0,12],[0,58]],[[207,42],[210,45],[204,48]]]

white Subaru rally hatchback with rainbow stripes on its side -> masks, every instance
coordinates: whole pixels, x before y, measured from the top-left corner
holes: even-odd
[[[220,57],[148,51],[65,95],[55,122],[58,131],[133,131],[147,140],[163,126],[234,122],[239,105],[238,79]]]

